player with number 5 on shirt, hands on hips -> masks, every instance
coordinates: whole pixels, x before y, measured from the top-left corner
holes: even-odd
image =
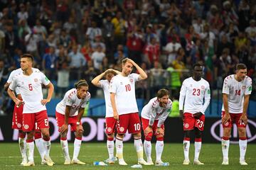
[[[49,122],[46,111],[46,103],[48,103],[53,94],[53,84],[47,77],[38,70],[32,69],[33,56],[24,54],[21,56],[21,69],[23,73],[17,74],[8,89],[8,94],[14,101],[16,106],[23,104],[23,125],[22,130],[27,134],[28,147],[28,163],[24,166],[34,166],[33,160],[33,133],[38,128],[43,135],[43,146],[45,148],[44,159],[48,166],[53,166],[54,162],[50,159],[50,133]],[[42,84],[48,88],[48,96],[43,99]],[[14,90],[18,87],[21,92],[23,101],[16,98]]]

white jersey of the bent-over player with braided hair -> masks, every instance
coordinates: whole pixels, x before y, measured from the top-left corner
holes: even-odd
[[[56,111],[65,115],[65,107],[71,106],[69,116],[78,115],[80,108],[85,108],[90,101],[90,93],[87,92],[84,99],[78,98],[77,89],[70,89],[65,93],[64,98],[56,106]]]

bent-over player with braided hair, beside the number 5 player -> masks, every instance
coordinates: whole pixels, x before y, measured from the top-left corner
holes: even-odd
[[[65,93],[64,98],[56,106],[56,120],[60,132],[60,144],[65,157],[64,164],[85,164],[78,159],[80,146],[82,143],[82,124],[80,122],[85,107],[90,101],[90,93],[88,92],[87,81],[81,79],[75,83],[75,89],[70,89]],[[71,126],[71,131],[75,132],[74,152],[72,162],[68,153],[67,132],[68,125]]]

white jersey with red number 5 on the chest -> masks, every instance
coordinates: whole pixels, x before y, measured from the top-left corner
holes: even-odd
[[[18,87],[20,90],[24,101],[23,113],[38,113],[46,110],[46,106],[41,104],[41,100],[43,100],[42,84],[47,86],[49,83],[45,74],[39,70],[33,70],[29,76],[23,73],[16,74],[9,88],[14,91]]]

